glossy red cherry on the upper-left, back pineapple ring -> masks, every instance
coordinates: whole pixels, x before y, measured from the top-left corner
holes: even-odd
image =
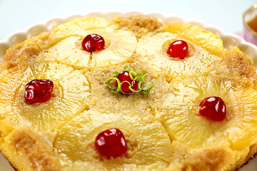
[[[103,37],[98,34],[89,34],[83,39],[81,45],[85,51],[92,53],[104,49],[104,43]]]

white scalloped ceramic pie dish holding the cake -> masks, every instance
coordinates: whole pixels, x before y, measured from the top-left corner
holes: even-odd
[[[7,36],[5,39],[0,40],[0,61],[3,58],[6,50],[17,43],[21,43],[26,40],[26,38],[30,38],[32,36],[37,36],[42,31],[51,31],[54,26],[57,26],[65,21],[69,21],[71,19],[75,19],[81,16],[96,16],[104,19],[112,19],[115,16],[131,16],[133,14],[142,14],[141,12],[131,11],[128,13],[121,12],[109,12],[106,14],[100,12],[94,12],[86,15],[74,15],[66,18],[54,18],[49,19],[48,21],[34,24],[29,26],[25,31],[17,31]],[[257,46],[254,46],[251,43],[247,43],[240,36],[237,36],[232,33],[225,33],[221,28],[217,28],[216,26],[211,26],[207,24],[203,24],[201,21],[187,21],[183,19],[181,16],[163,16],[163,14],[146,14],[150,16],[156,17],[161,22],[166,21],[186,21],[191,24],[196,24],[198,26],[202,26],[203,28],[207,28],[210,31],[213,31],[223,40],[223,46],[225,48],[231,48],[231,46],[238,46],[246,55],[248,55],[252,60],[254,65],[257,67]],[[1,70],[0,70],[1,72]],[[4,156],[0,152],[0,170],[1,171],[14,171],[13,167],[9,164],[8,160],[4,158]],[[257,170],[257,157],[251,160],[247,165],[243,166],[240,171],[256,171]]]

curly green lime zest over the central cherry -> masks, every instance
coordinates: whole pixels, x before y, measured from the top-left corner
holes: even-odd
[[[124,69],[129,72],[129,77],[131,78],[132,81],[138,81],[137,90],[134,90],[133,88],[131,88],[131,83],[129,83],[129,81],[122,81],[122,82],[119,81],[117,76],[124,71],[121,71],[121,72],[115,71],[114,76],[112,76],[106,80],[106,84],[110,88],[110,90],[113,90],[114,93],[123,93],[123,94],[133,94],[133,93],[139,93],[139,92],[141,92],[143,94],[148,94],[150,92],[151,88],[153,88],[153,81],[149,81],[149,82],[151,82],[151,85],[148,88],[143,89],[145,86],[144,78],[146,76],[147,71],[142,71],[141,73],[136,73],[136,69],[131,70],[130,66],[125,66]],[[111,81],[116,81],[118,86],[111,87],[110,86]],[[131,90],[132,93],[124,93],[124,91],[121,90],[121,85],[123,83],[129,83],[129,90]]]

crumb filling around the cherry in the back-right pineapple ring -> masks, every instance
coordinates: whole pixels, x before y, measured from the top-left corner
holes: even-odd
[[[171,58],[171,56],[169,56],[168,53],[167,53],[168,47],[171,45],[171,43],[173,41],[178,41],[178,40],[183,40],[183,38],[172,38],[172,39],[164,42],[163,45],[162,45],[163,53],[165,53],[165,55],[167,56],[167,58],[169,60],[181,61],[180,58]],[[183,40],[183,41],[186,41],[186,40]],[[188,58],[188,57],[193,56],[194,53],[196,53],[196,49],[194,48],[193,44],[188,42],[188,41],[186,41],[186,43],[188,44],[188,53],[187,53],[185,59]]]

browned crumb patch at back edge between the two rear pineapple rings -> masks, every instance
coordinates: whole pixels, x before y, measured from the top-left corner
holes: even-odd
[[[134,15],[129,18],[119,16],[114,18],[113,21],[121,27],[129,28],[139,38],[143,36],[143,34],[149,31],[155,31],[162,26],[158,19],[143,15]]]

